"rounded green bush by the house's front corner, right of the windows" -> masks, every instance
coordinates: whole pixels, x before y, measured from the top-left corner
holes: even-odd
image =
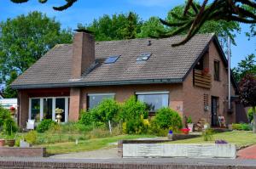
[[[161,108],[157,110],[154,117],[154,125],[160,129],[170,129],[173,132],[178,132],[183,127],[182,118],[177,111],[170,108]]]

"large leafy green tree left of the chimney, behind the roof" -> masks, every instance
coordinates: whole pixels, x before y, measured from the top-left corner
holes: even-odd
[[[0,23],[0,77],[18,75],[58,43],[72,42],[72,32],[45,14],[32,12]]]

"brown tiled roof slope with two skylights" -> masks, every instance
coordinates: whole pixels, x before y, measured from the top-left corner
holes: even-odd
[[[123,41],[96,42],[98,65],[83,73],[79,81],[73,81],[72,44],[56,45],[41,59],[20,75],[12,87],[69,87],[101,86],[111,84],[137,84],[155,82],[183,82],[195,60],[201,55],[213,34],[193,37],[182,46],[172,47],[183,37],[166,39],[132,39]],[[148,46],[148,41],[151,45]],[[144,63],[137,56],[151,53]],[[113,64],[104,64],[111,55],[121,55]]]

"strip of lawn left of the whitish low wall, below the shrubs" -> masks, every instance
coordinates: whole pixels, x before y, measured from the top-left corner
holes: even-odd
[[[79,144],[75,142],[56,143],[56,144],[40,144],[38,147],[45,147],[49,155],[65,154],[81,151],[90,151],[102,148],[112,148],[116,145],[111,143],[118,142],[121,139],[136,139],[136,138],[152,138],[151,135],[119,135],[108,138],[94,138],[88,140],[79,140]]]

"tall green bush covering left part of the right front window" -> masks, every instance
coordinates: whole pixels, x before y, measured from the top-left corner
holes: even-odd
[[[143,102],[136,99],[135,96],[131,96],[121,106],[121,112],[119,114],[119,120],[125,122],[125,133],[146,133],[147,125],[144,125],[143,119],[148,118],[148,107]]]

